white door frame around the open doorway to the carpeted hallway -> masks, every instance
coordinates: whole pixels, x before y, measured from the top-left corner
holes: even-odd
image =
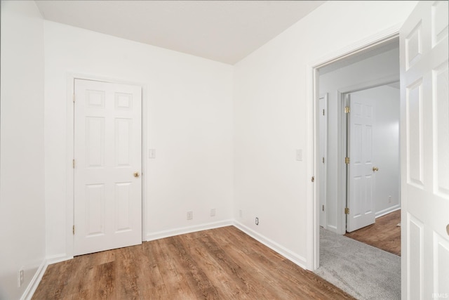
[[[367,51],[379,44],[383,44],[392,39],[398,38],[399,29],[401,24],[394,27],[390,27],[387,30],[379,32],[372,37],[368,37],[362,41],[358,41],[356,44],[347,46],[346,48],[337,51],[336,53],[330,53],[328,56],[317,60],[316,63],[312,63],[307,67],[307,141],[309,148],[307,149],[311,153],[311,159],[307,164],[307,170],[309,174],[309,185],[307,185],[307,268],[309,270],[316,270],[319,268],[319,131],[318,129],[318,108],[316,103],[319,100],[319,68],[331,63],[335,63],[337,60],[342,60],[356,53]],[[354,89],[354,86],[351,87]],[[350,90],[349,90],[350,91]],[[344,91],[340,91],[344,92]],[[337,109],[342,110],[341,101],[337,103]],[[341,124],[341,120],[338,120],[338,124]],[[341,125],[339,125],[341,126]],[[341,128],[339,132],[341,132]],[[339,147],[341,152],[341,145]],[[340,157],[340,155],[338,156]],[[342,174],[342,168],[339,167],[338,174]],[[341,185],[339,185],[341,186]],[[339,193],[341,194],[341,193]],[[338,204],[337,204],[338,209]],[[344,218],[342,218],[344,219]],[[342,220],[343,221],[343,220]]]

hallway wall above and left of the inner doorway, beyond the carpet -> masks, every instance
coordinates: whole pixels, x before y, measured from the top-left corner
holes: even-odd
[[[320,93],[328,93],[328,176],[326,190],[326,229],[335,233],[345,233],[345,218],[343,188],[340,181],[344,174],[338,168],[340,147],[340,115],[338,92],[351,91],[351,87],[360,88],[373,84],[379,79],[399,80],[399,48],[393,48],[384,53],[341,67],[333,72],[327,72],[319,77]],[[341,153],[344,157],[344,153]],[[344,170],[343,170],[344,171]],[[340,186],[340,188],[339,188]],[[340,201],[340,204],[339,202]]]

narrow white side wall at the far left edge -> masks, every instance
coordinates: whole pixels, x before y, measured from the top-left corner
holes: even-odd
[[[43,63],[34,1],[1,1],[0,299],[27,294],[45,261]]]

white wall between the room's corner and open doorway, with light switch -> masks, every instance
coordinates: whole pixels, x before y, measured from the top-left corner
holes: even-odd
[[[311,267],[309,67],[401,24],[415,4],[328,1],[235,65],[234,215],[239,227],[302,266]],[[295,149],[303,150],[302,161],[295,159]]]

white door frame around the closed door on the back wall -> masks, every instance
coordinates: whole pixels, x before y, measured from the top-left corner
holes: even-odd
[[[74,169],[72,166],[72,159],[74,157],[74,81],[75,79],[104,81],[114,84],[130,84],[134,86],[140,86],[142,88],[142,242],[145,241],[145,234],[147,228],[147,219],[145,211],[147,211],[147,196],[145,193],[145,186],[147,185],[147,156],[145,155],[145,149],[147,149],[147,133],[148,120],[147,120],[147,89],[145,84],[126,81],[116,78],[100,77],[90,74],[68,73],[67,74],[67,156],[66,156],[66,257],[65,259],[71,259],[74,256],[74,235],[72,233],[72,226],[74,225]]]

